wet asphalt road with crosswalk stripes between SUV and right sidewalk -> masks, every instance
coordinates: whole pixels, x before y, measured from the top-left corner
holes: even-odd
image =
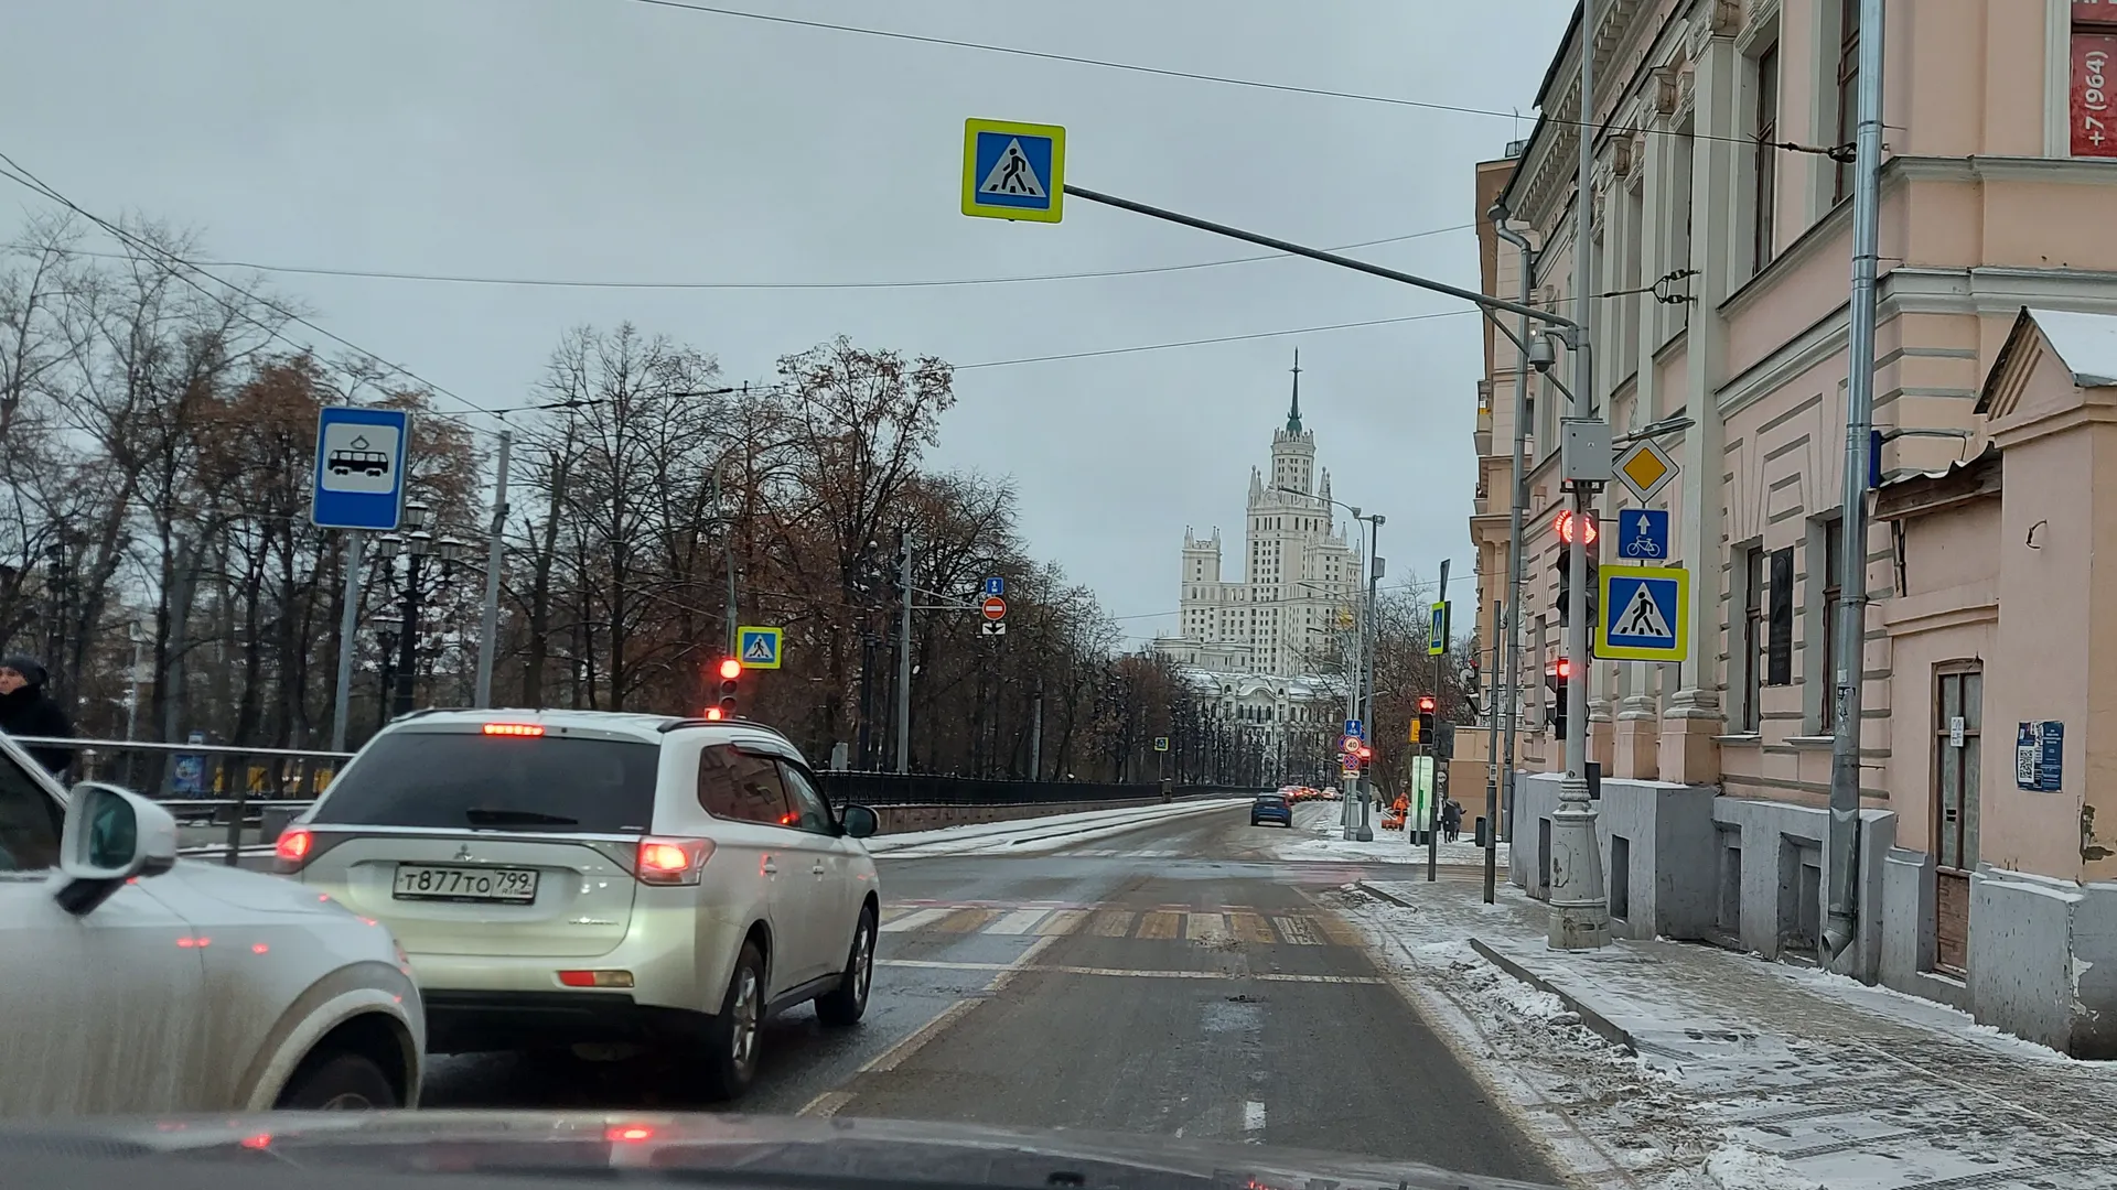
[[[826,1031],[807,1006],[773,1021],[741,1110],[1234,1139],[1556,1182],[1329,910],[1368,868],[1270,860],[1260,843],[1274,836],[1232,809],[1048,855],[879,858],[866,1021]],[[438,1057],[423,1105],[711,1107],[680,1054]]]

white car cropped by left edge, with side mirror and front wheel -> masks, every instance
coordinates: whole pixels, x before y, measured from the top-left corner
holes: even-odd
[[[387,930],[0,739],[0,1116],[402,1107],[423,1050]]]

